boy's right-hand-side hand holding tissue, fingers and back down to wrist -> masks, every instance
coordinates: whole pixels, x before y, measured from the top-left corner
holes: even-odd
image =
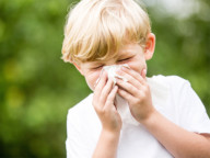
[[[118,72],[128,81],[117,79],[118,94],[128,101],[132,116],[142,122],[154,112],[149,84],[145,81],[145,69],[139,75],[132,69],[122,67]]]

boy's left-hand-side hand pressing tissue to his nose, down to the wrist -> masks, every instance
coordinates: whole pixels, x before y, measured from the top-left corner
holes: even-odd
[[[103,129],[108,132],[119,132],[121,128],[121,119],[114,104],[117,90],[118,87],[113,88],[113,80],[107,79],[107,72],[104,71],[94,90],[93,106]]]

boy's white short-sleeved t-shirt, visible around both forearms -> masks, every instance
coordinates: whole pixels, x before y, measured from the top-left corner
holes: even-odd
[[[190,83],[176,76],[148,78],[154,108],[178,126],[210,134],[210,120]],[[68,158],[91,158],[101,122],[92,105],[93,94],[71,108],[67,117]],[[122,126],[117,158],[172,158],[173,156],[141,124]]]

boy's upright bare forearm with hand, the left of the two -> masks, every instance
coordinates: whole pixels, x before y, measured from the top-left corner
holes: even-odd
[[[107,81],[107,75],[103,72],[93,97],[93,106],[102,123],[102,132],[93,158],[116,157],[121,128],[121,120],[114,105],[117,89],[117,87],[113,88],[113,81]]]

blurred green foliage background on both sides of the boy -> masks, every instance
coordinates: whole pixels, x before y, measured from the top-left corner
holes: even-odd
[[[144,0],[156,35],[149,76],[191,82],[210,114],[210,1]],[[0,0],[0,157],[62,158],[68,109],[91,91],[61,57],[72,0]]]

